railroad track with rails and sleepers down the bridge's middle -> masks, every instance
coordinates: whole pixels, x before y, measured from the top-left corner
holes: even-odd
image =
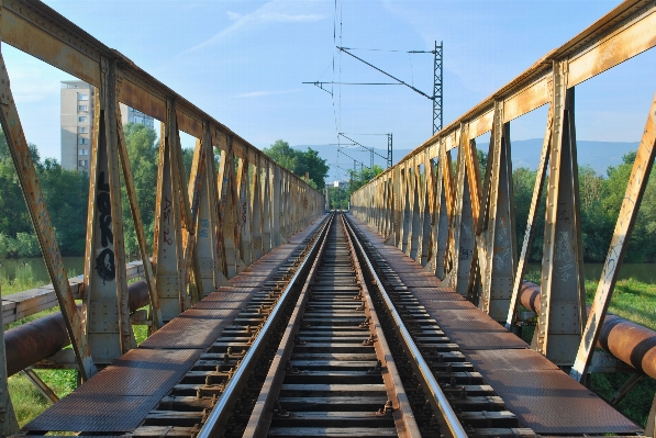
[[[534,436],[343,214],[132,435]]]

